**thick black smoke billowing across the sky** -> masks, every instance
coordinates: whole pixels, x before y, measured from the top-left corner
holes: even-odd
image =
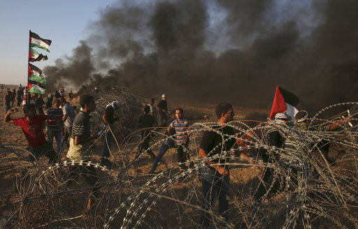
[[[117,84],[250,108],[270,108],[280,85],[317,111],[357,101],[357,10],[354,0],[119,2],[44,73],[50,89]]]

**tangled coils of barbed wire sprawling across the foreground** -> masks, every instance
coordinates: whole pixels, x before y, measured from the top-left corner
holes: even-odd
[[[125,92],[125,91],[124,91]],[[141,108],[141,100],[131,94],[116,91],[116,96],[98,95],[101,104],[118,100],[124,106],[120,114]],[[114,93],[113,91],[111,93]],[[121,97],[118,97],[121,96]],[[341,119],[344,112],[328,119],[322,114],[331,108],[351,106],[352,123],[355,123],[357,103],[339,103],[322,109],[311,126],[327,126]],[[104,107],[103,107],[104,109]],[[138,109],[137,109],[138,110]],[[97,125],[101,115],[92,117]],[[90,161],[68,161],[48,165],[44,159],[17,167],[15,189],[0,209],[11,209],[13,214],[3,223],[5,228],[201,228],[202,212],[209,214],[214,228],[358,228],[358,142],[357,128],[341,125],[337,131],[308,131],[278,124],[275,121],[231,121],[235,135],[225,135],[215,128],[215,122],[192,124],[187,148],[189,160],[186,170],[175,159],[176,149],[169,149],[154,174],[149,174],[153,159],[146,158],[146,151],[158,152],[159,147],[175,136],[164,136],[161,129],[152,131],[150,148],[135,158],[141,144],[138,131],[119,134],[120,126],[110,133],[115,139],[115,150],[110,151],[113,166]],[[133,125],[132,125],[133,126]],[[99,128],[99,127],[98,127]],[[129,130],[130,128],[127,128]],[[122,131],[122,129],[120,129]],[[123,129],[124,130],[124,129]],[[279,131],[291,140],[294,150],[268,144],[269,131]],[[203,209],[201,171],[206,168],[206,158],[199,157],[201,136],[214,131],[225,138],[217,145],[211,158],[225,161],[218,165],[230,170],[227,210],[228,219],[217,211],[217,205]],[[124,133],[124,131],[122,131]],[[248,137],[250,134],[250,138]],[[229,139],[242,144],[225,151],[222,147]],[[98,140],[94,145],[99,145]],[[324,142],[324,143],[322,143]],[[326,152],[323,146],[330,146]],[[11,149],[12,147],[7,147]],[[89,149],[99,154],[98,149]],[[262,151],[271,161],[262,160]],[[10,150],[24,157],[22,152]],[[241,152],[248,158],[240,156]],[[332,159],[334,158],[334,159]],[[10,158],[6,157],[6,161]],[[23,159],[23,158],[22,158]],[[94,168],[98,182],[90,186],[85,182],[86,170]],[[272,170],[267,181],[264,171]],[[75,172],[73,172],[75,171]],[[73,175],[74,174],[74,175]],[[275,191],[275,184],[280,189]],[[259,184],[265,187],[264,195],[256,198]],[[92,189],[98,189],[94,207],[85,212]]]

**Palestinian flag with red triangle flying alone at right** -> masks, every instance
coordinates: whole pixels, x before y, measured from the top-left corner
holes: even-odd
[[[283,89],[282,87],[276,87],[275,98],[273,98],[270,119],[275,117],[277,113],[285,113],[291,120],[294,121],[294,116],[300,110],[306,110],[303,103],[295,94]]]

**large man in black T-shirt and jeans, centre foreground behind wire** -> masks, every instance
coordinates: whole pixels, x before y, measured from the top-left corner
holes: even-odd
[[[229,103],[220,103],[215,108],[217,114],[217,125],[213,131],[203,133],[199,156],[206,161],[203,168],[201,182],[203,184],[203,209],[208,211],[213,205],[215,193],[219,199],[219,213],[228,219],[229,202],[227,194],[229,191],[229,152],[236,143],[234,130],[226,123],[233,120],[234,110]],[[235,152],[238,154],[238,152]],[[239,156],[240,154],[238,154]],[[208,227],[210,214],[201,212],[201,226]]]

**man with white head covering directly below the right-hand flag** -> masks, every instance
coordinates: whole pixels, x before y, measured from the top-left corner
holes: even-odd
[[[284,113],[277,113],[275,114],[275,119],[273,120],[275,125],[285,126],[285,122],[289,121],[289,118]],[[276,148],[282,148],[284,147],[285,138],[282,138],[282,135],[280,131],[278,131],[278,128],[269,128],[268,133],[266,134],[266,138],[264,138],[264,141],[266,145],[269,147],[276,147]],[[264,149],[264,152],[262,152],[262,161],[264,163],[275,163],[275,161],[278,161],[279,155],[272,151],[271,149]],[[255,193],[255,199],[259,200],[259,198],[262,198],[262,196],[266,193],[266,187],[270,186],[267,184],[268,179],[273,175],[274,169],[266,167],[264,174],[262,175],[261,182],[259,184],[259,188],[257,189],[257,192]],[[276,179],[275,184],[273,184],[273,187],[271,189],[271,192],[276,193],[280,186],[280,179]]]

